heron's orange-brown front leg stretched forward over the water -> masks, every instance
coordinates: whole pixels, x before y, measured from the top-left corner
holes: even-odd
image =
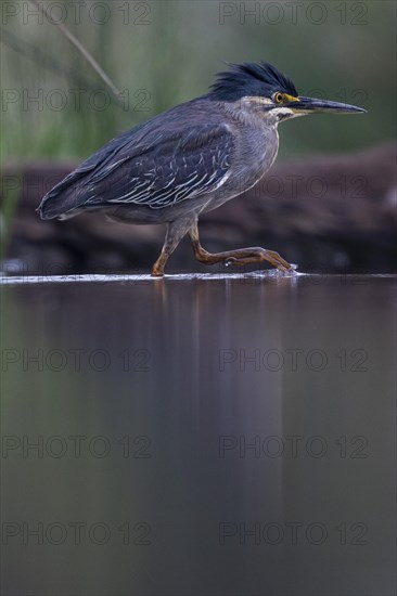
[[[281,271],[291,271],[295,269],[295,265],[284,261],[278,252],[260,247],[240,248],[215,254],[207,252],[200,244],[197,222],[189,230],[189,236],[192,242],[194,256],[201,263],[215,264],[227,261],[231,264],[243,265],[268,261]]]

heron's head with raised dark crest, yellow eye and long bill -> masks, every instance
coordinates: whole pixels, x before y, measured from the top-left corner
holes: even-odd
[[[260,111],[265,118],[279,122],[306,114],[351,114],[366,112],[345,103],[303,98],[290,78],[268,62],[230,64],[230,70],[219,73],[209,98],[225,102],[241,101]]]

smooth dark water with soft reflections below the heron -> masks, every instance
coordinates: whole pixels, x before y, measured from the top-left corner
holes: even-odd
[[[395,594],[395,294],[4,287],[2,593]]]

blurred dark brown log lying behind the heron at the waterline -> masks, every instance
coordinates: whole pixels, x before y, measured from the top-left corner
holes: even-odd
[[[394,144],[277,163],[251,191],[201,218],[202,244],[213,251],[265,246],[298,263],[300,271],[394,272],[396,164]],[[39,219],[35,208],[41,196],[75,166],[10,163],[2,168],[2,212],[15,203],[5,224],[3,269],[28,274],[148,272],[164,226],[111,223],[101,213]],[[194,260],[187,239],[167,269],[178,271],[208,271]]]

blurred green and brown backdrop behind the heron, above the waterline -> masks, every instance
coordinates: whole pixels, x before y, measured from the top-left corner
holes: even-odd
[[[259,186],[202,222],[209,250],[262,245],[303,271],[395,271],[396,4],[377,2],[3,2],[3,269],[148,271],[162,226],[100,215],[41,222],[42,194],[118,132],[206,92],[222,61],[266,60],[305,95],[363,116],[299,118]],[[61,27],[61,28],[60,28]],[[112,79],[112,92],[66,27]],[[5,259],[5,263],[4,263]],[[201,271],[182,243],[169,272]],[[172,269],[174,268],[174,269]]]

